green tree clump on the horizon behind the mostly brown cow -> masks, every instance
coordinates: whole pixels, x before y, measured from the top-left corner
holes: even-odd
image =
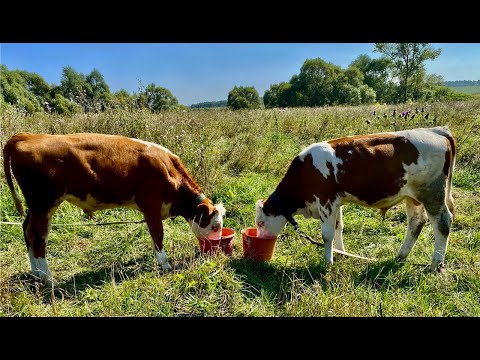
[[[107,109],[149,109],[153,112],[184,107],[170,90],[154,83],[130,94],[122,89],[111,92],[97,69],[84,75],[66,66],[60,85],[48,84],[40,75],[24,70],[8,70],[0,65],[0,102],[15,105],[27,113],[38,111],[74,114]]]

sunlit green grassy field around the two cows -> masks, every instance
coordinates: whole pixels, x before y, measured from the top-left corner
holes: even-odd
[[[425,107],[429,120],[389,116],[393,109]],[[373,111],[377,115],[373,116]],[[387,117],[384,118],[383,114]],[[436,119],[435,119],[436,118]],[[435,119],[435,122],[433,122]],[[201,254],[183,218],[164,221],[173,266],[156,266],[145,224],[53,226],[47,259],[58,287],[33,281],[20,226],[0,225],[0,316],[480,316],[480,101],[371,105],[317,109],[184,110],[151,114],[25,116],[0,110],[1,145],[16,132],[101,132],[157,142],[179,156],[214,201],[227,209],[236,231],[231,257]],[[387,212],[344,208],[347,251],[376,262],[335,257],[327,271],[323,250],[287,225],[271,261],[242,258],[240,231],[254,226],[255,202],[266,198],[305,146],[334,137],[448,124],[458,141],[453,182],[456,217],[446,272],[429,272],[433,232],[425,226],[407,261],[393,261],[406,230],[404,205]],[[21,222],[1,178],[1,221]],[[41,189],[39,189],[41,191]],[[87,219],[63,203],[53,223],[139,220],[141,213],[112,209]],[[320,240],[316,220],[297,217]]]

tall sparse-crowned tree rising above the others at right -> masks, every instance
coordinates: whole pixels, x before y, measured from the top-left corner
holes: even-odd
[[[428,43],[376,43],[375,51],[391,61],[406,102],[413,91],[413,78],[425,71],[425,61],[436,59],[442,50]]]

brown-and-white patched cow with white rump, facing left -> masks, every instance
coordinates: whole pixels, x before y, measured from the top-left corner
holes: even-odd
[[[452,172],[456,144],[447,127],[347,136],[315,143],[291,162],[266,201],[256,204],[259,236],[276,236],[292,215],[320,219],[325,261],[333,243],[344,251],[342,206],[357,203],[385,212],[406,200],[408,229],[398,258],[409,254],[430,219],[432,270],[443,269],[453,217]]]

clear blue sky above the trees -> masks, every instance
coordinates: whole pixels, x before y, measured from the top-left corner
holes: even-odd
[[[480,80],[480,43],[432,44],[442,49],[427,72],[444,80]],[[98,69],[111,91],[138,91],[139,81],[169,89],[191,105],[226,100],[235,86],[254,86],[263,96],[271,84],[298,74],[306,59],[320,57],[346,68],[358,55],[378,57],[373,43],[48,43],[0,44],[8,69],[41,75],[59,84],[62,68],[84,74]]]

